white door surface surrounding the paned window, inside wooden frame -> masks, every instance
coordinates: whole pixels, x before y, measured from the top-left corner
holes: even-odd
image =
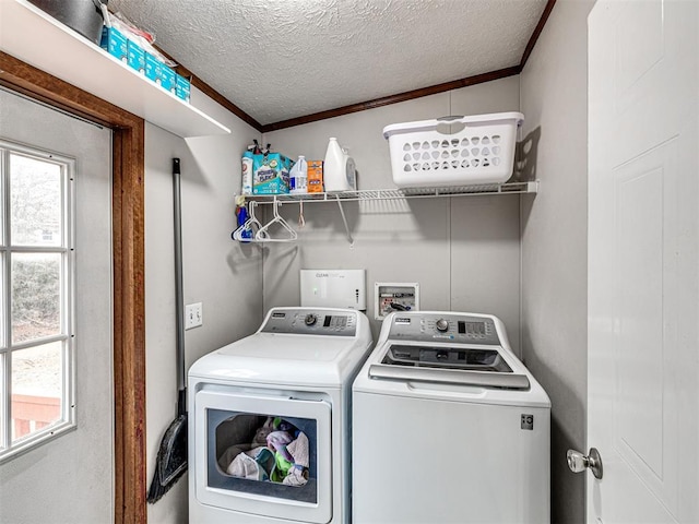
[[[74,402],[67,406],[75,427],[0,464],[0,522],[114,522],[111,131],[0,90],[0,138],[74,159],[75,253],[75,271],[67,276],[74,278],[75,290],[74,323],[68,327],[68,336],[74,338]],[[52,369],[40,359],[20,354],[5,374],[14,388],[13,419],[14,397],[29,385],[28,379],[15,381],[20,367],[38,391],[54,381]],[[36,390],[27,395],[50,396]],[[32,418],[27,428],[38,424]],[[15,439],[17,430],[13,431]]]

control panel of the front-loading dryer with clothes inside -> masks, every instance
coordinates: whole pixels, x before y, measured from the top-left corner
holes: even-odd
[[[260,329],[262,333],[355,336],[357,314],[324,309],[273,309]]]

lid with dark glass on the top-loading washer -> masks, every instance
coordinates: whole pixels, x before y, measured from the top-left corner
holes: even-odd
[[[501,349],[389,341],[378,352],[378,361],[369,366],[368,374],[371,379],[528,390],[526,373],[516,372]]]

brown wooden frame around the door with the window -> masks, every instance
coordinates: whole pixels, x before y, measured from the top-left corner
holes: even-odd
[[[145,523],[145,123],[2,51],[0,84],[112,129],[115,522]]]

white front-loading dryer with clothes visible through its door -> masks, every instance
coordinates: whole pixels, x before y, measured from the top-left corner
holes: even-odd
[[[190,522],[350,522],[352,381],[371,344],[358,311],[273,308],[194,362]]]

